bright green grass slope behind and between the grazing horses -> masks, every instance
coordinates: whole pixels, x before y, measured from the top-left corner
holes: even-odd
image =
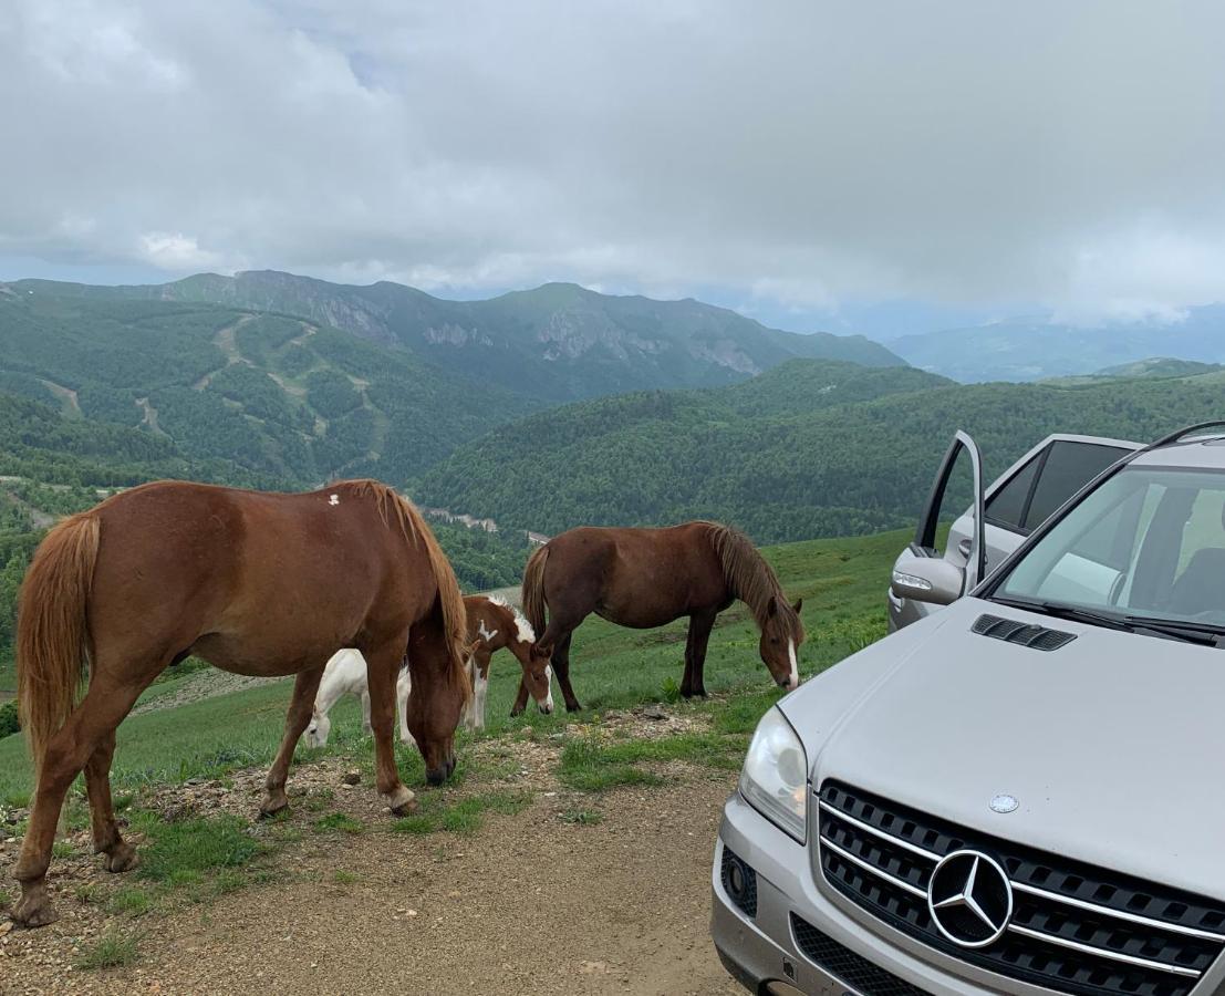
[[[905,534],[850,540],[817,540],[767,550],[790,597],[804,597],[809,642],[800,653],[807,676],[840,660],[884,632],[884,587],[889,566],[907,541]],[[662,630],[622,630],[590,619],[576,632],[571,654],[575,691],[589,715],[641,702],[673,700],[680,682],[685,651],[681,624]],[[491,669],[486,735],[532,725],[538,735],[560,733],[566,713],[541,717],[530,708],[521,719],[508,718],[518,687],[518,665],[499,654]],[[720,617],[710,639],[706,670],[713,695],[735,692],[728,708],[746,713],[751,724],[780,692],[771,687],[757,657],[757,636],[741,605]],[[181,679],[180,679],[181,680]],[[132,717],[119,728],[115,782],[119,790],[149,782],[181,782],[211,777],[235,767],[265,764],[276,752],[292,682],[235,692],[163,712]],[[156,686],[146,696],[169,695],[174,684]],[[334,745],[328,750],[358,751],[369,761],[369,744],[358,749],[355,703],[337,707]],[[463,741],[467,735],[462,735]],[[299,757],[311,756],[299,749]],[[461,764],[464,752],[461,750]],[[405,775],[420,784],[424,772],[414,752],[402,752]],[[410,782],[410,784],[413,784]],[[31,773],[21,736],[0,740],[0,802],[21,804]]]

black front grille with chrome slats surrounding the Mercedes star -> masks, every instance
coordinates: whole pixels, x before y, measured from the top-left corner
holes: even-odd
[[[1185,996],[1225,947],[1225,907],[958,827],[826,782],[817,860],[838,892],[938,951],[1012,979],[1085,996]],[[927,904],[936,864],[970,849],[1011,881],[1013,910],[992,943],[942,935]]]

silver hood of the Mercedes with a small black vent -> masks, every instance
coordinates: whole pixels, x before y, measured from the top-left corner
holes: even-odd
[[[984,613],[1077,638],[1005,643],[971,631]],[[1223,651],[964,598],[780,708],[813,785],[1225,899],[1223,703]],[[1014,812],[989,807],[1003,793]]]

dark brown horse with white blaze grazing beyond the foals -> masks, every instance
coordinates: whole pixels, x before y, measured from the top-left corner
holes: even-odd
[[[571,712],[581,708],[570,686],[570,639],[588,615],[646,630],[688,616],[681,695],[706,695],[702,669],[714,617],[736,599],[761,630],[761,657],[784,689],[800,684],[796,652],[804,643],[801,603],[790,605],[774,571],[748,539],[715,522],[668,529],[582,527],[555,537],[528,561],[523,611],[541,633],[537,653],[551,655]],[[548,609],[549,625],[545,626]],[[527,686],[512,714],[527,704]]]

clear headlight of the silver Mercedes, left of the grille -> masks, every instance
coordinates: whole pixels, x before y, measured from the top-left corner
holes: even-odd
[[[809,758],[791,724],[772,708],[757,724],[740,773],[740,794],[801,844],[807,827]]]

